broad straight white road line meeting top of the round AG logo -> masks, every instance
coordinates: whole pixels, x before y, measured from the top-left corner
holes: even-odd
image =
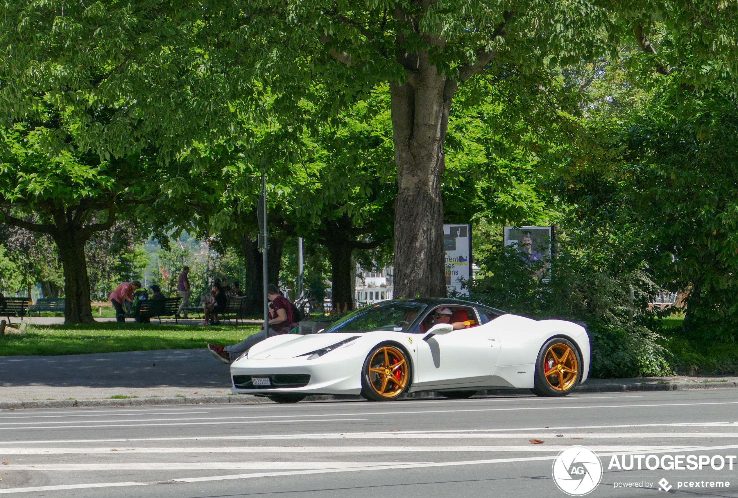
[[[556,438],[556,443],[562,442]],[[205,454],[205,453],[382,453],[382,452],[561,452],[566,444],[527,444],[502,446],[213,446],[213,447],[142,447],[142,448],[7,448],[3,455],[27,454],[110,454],[118,457],[123,454],[165,453]],[[590,446],[598,452],[646,452],[656,450],[706,449],[708,445],[597,445]],[[738,445],[721,446],[738,448]],[[379,465],[379,464],[377,464]],[[3,468],[13,468],[3,466]]]

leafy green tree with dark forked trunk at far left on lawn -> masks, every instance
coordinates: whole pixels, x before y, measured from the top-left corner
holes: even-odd
[[[51,236],[63,266],[66,323],[90,323],[85,245],[110,229],[118,213],[162,196],[168,168],[146,156],[100,161],[97,154],[48,153],[46,131],[18,124],[0,128],[0,221]]]

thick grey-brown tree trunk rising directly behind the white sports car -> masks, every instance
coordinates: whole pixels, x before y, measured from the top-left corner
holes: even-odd
[[[455,85],[418,57],[421,69],[406,83],[390,83],[398,184],[395,297],[445,297],[441,176]]]

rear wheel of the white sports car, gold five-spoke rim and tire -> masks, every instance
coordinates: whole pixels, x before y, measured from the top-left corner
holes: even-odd
[[[563,360],[563,362],[556,362],[554,356],[549,353],[551,348],[553,348],[554,353],[559,355],[557,356],[559,360]],[[568,370],[556,372],[559,363]],[[570,394],[579,385],[579,378],[582,377],[582,367],[582,357],[579,356],[579,351],[573,342],[563,337],[548,339],[541,347],[536,359],[534,394],[538,396],[565,396]],[[574,373],[571,370],[574,370]]]

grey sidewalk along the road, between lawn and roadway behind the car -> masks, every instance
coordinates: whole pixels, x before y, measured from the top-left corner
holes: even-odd
[[[230,371],[205,349],[129,351],[67,356],[0,356],[0,409],[149,404],[252,403],[232,395]],[[738,387],[738,376],[592,378],[577,392],[623,392]],[[479,395],[530,395],[527,389]],[[408,395],[433,398],[434,392]],[[310,396],[313,400],[358,396]]]

